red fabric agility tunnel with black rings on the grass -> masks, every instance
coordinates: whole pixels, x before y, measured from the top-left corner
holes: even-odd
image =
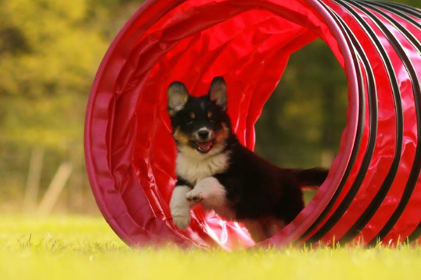
[[[288,57],[316,38],[347,76],[340,151],[312,202],[258,246],[419,238],[420,10],[351,0],[149,0],[105,55],[86,113],[88,176],[121,239],[254,245],[241,225],[201,209],[187,230],[173,225],[176,148],[166,90],[181,80],[193,94],[206,94],[212,78],[223,76],[234,130],[253,149],[255,122]]]

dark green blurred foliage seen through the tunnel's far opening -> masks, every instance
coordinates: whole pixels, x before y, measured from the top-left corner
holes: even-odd
[[[256,151],[282,166],[321,165],[345,127],[347,80],[321,40],[290,57],[256,125]]]

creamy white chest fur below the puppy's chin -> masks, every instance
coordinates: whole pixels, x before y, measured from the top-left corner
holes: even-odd
[[[175,172],[189,183],[196,185],[206,177],[225,172],[228,168],[228,160],[228,153],[204,158],[202,155],[180,151],[177,155]]]

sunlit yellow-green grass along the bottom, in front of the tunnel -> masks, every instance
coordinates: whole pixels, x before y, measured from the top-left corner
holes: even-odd
[[[0,279],[419,279],[421,248],[128,248],[102,218],[0,216]]]

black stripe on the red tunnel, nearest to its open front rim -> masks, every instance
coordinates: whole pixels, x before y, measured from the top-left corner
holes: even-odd
[[[324,4],[323,4],[324,6]],[[350,38],[350,34],[352,34],[352,31],[349,30],[349,28],[347,27],[347,25],[344,25],[342,22],[342,19],[340,17],[338,17],[338,15],[336,15],[332,10],[330,10],[330,8],[328,6],[324,6],[326,8],[326,10],[328,10],[330,12],[330,14],[333,16],[333,18],[335,18],[335,20],[338,23],[338,26],[342,29],[342,32],[345,36],[345,38],[347,39],[348,45],[350,47],[352,47],[352,50],[354,50],[352,52],[352,60],[354,62],[354,64],[356,65],[356,76],[359,78],[359,118],[358,118],[358,124],[357,124],[357,131],[356,131],[356,141],[354,144],[354,147],[352,148],[352,154],[351,154],[351,158],[349,160],[349,164],[347,165],[347,169],[345,170],[345,174],[342,178],[342,181],[340,181],[340,184],[338,186],[338,189],[336,190],[335,194],[333,195],[332,199],[330,200],[330,202],[328,203],[328,205],[326,206],[325,209],[323,209],[323,212],[320,214],[320,216],[316,219],[316,221],[305,231],[305,233],[297,240],[295,241],[295,243],[302,241],[303,239],[305,239],[307,237],[307,235],[309,235],[310,232],[312,232],[312,230],[314,230],[314,228],[316,228],[317,225],[319,225],[319,223],[321,223],[321,221],[323,221],[323,218],[326,217],[326,215],[329,213],[330,209],[332,209],[333,204],[335,204],[336,200],[338,199],[340,193],[342,192],[345,183],[347,182],[347,179],[349,178],[349,174],[352,170],[352,167],[354,167],[355,161],[356,161],[356,156],[359,153],[359,148],[361,146],[361,140],[363,137],[363,127],[364,127],[364,116],[366,114],[366,99],[365,99],[365,89],[363,87],[363,76],[361,74],[361,69],[359,68],[359,60],[356,57],[355,54],[355,45],[354,43],[351,43],[351,38]]]

